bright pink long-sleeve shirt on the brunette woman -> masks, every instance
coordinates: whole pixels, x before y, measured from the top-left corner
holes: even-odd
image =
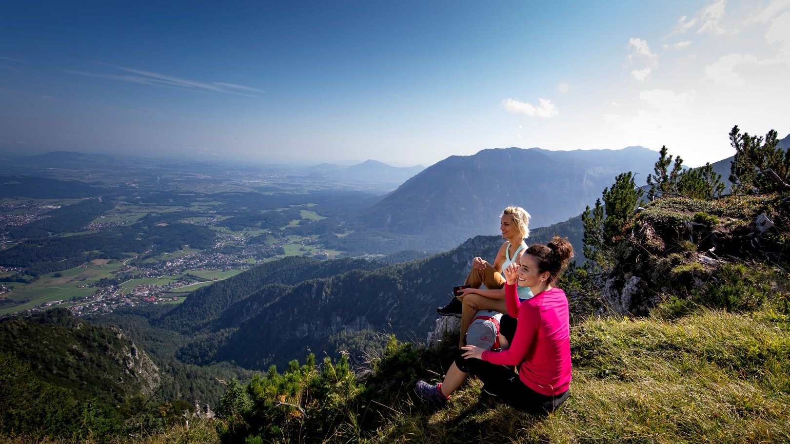
[[[501,365],[521,364],[518,376],[530,389],[546,396],[565,392],[570,385],[570,317],[568,299],[559,288],[541,292],[524,302],[516,285],[505,284],[507,314],[518,319],[510,348],[483,352],[483,360]]]

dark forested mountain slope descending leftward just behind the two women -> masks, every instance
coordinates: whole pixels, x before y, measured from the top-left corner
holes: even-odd
[[[549,228],[532,232],[528,243],[546,243],[553,235],[568,237],[581,251],[583,228],[574,217]],[[375,332],[394,333],[401,339],[424,337],[432,328],[436,307],[448,302],[450,289],[463,283],[472,258],[492,260],[502,245],[498,236],[476,236],[453,250],[429,258],[399,264],[363,262],[364,266],[346,271],[333,265],[337,261],[317,262],[309,258],[288,258],[271,262],[268,273],[283,267],[293,270],[324,267],[333,275],[302,274],[303,281],[268,282],[255,292],[224,308],[213,322],[211,332],[196,337],[181,351],[182,359],[196,363],[229,361],[241,367],[264,370],[270,364],[282,368],[300,359],[308,350],[329,354],[343,349],[352,356],[371,350]],[[282,262],[281,265],[278,263]],[[287,265],[285,265],[287,264]],[[239,274],[239,280],[247,280]],[[264,276],[264,269],[258,270]],[[209,289],[196,301],[201,305],[222,306],[213,301],[218,292]],[[176,309],[174,316],[186,310]],[[371,339],[371,336],[374,338]],[[373,349],[376,349],[375,347]]]

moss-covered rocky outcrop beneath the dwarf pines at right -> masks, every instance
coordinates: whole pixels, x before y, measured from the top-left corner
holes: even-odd
[[[786,262],[788,220],[788,202],[777,194],[653,201],[626,228],[600,311],[646,314],[669,298],[705,293],[728,264]]]

